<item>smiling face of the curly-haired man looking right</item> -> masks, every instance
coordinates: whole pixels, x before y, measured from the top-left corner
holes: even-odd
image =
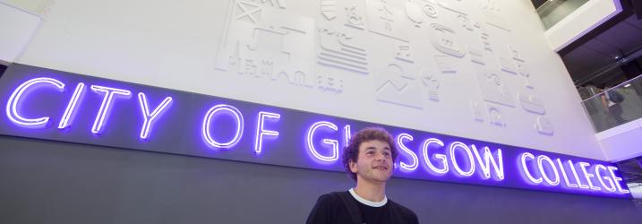
[[[385,183],[392,176],[392,151],[388,142],[371,140],[361,142],[357,161],[350,161],[350,170],[356,181],[372,184]]]

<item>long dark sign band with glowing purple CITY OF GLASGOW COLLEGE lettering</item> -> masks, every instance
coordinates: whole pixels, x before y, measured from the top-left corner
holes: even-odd
[[[0,79],[0,134],[343,171],[340,150],[371,124],[28,65]],[[629,198],[611,163],[384,126],[395,177]]]

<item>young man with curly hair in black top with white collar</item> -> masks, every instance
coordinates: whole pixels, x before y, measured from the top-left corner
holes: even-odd
[[[306,223],[419,223],[415,212],[386,197],[386,182],[397,155],[393,138],[382,128],[365,128],[354,134],[342,156],[356,186],[321,195]]]

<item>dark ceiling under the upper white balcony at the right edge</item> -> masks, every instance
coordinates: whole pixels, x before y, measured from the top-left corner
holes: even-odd
[[[535,8],[547,1],[531,0]],[[615,85],[632,78],[621,65],[642,68],[642,6],[637,1],[621,0],[619,15],[558,52],[577,86]]]

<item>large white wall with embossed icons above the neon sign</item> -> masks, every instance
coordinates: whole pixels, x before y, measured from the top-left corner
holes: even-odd
[[[604,159],[528,0],[388,2],[56,0],[17,62]]]

